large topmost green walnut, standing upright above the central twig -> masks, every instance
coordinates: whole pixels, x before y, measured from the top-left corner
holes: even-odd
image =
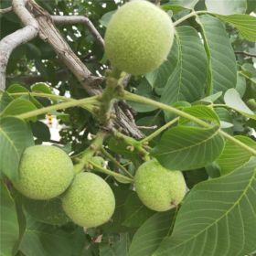
[[[112,16],[105,35],[108,59],[117,69],[140,75],[158,68],[174,40],[171,18],[144,0],[123,5]]]

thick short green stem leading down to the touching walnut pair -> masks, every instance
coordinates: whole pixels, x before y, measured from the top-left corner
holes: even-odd
[[[96,134],[96,137],[94,141],[91,143],[91,145],[80,155],[79,163],[77,165],[74,165],[74,173],[78,174],[81,171],[83,171],[89,163],[89,159],[98,151],[101,150],[103,141],[105,137],[107,136],[107,133],[104,133],[102,131],[98,132]]]

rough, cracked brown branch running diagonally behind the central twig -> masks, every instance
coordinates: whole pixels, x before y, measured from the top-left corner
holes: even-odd
[[[23,0],[14,0],[16,3],[23,3]],[[39,37],[47,42],[56,52],[59,59],[68,67],[74,76],[80,81],[82,87],[90,94],[101,93],[102,78],[94,76],[89,69],[82,63],[77,55],[69,47],[69,44],[61,37],[59,30],[54,26],[51,16],[46,10],[37,5],[34,0],[27,0],[27,9],[34,16],[31,22],[37,21],[39,27]],[[21,17],[22,22],[27,25],[27,20],[21,13],[16,13]],[[29,14],[29,16],[31,16]],[[113,123],[118,128],[122,128],[123,133],[135,138],[142,138],[144,134],[140,132],[131,117],[125,114],[121,107],[116,108],[116,118]]]

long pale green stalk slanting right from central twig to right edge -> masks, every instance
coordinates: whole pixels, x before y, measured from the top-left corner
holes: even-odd
[[[200,119],[198,119],[197,117],[190,115],[187,112],[183,112],[181,110],[178,110],[172,106],[168,106],[164,103],[158,102],[158,101],[154,101],[148,98],[145,98],[143,96],[140,95],[136,95],[133,94],[129,91],[124,91],[123,92],[123,96],[120,96],[120,99],[123,100],[127,100],[127,101],[135,101],[135,102],[139,102],[139,103],[144,103],[144,104],[148,104],[154,107],[157,107],[165,112],[172,112],[172,113],[176,113],[179,116],[182,116],[184,118],[187,118],[188,120],[198,123],[199,125],[205,127],[205,128],[211,128],[212,126],[209,123],[206,123]],[[240,147],[242,147],[243,149],[245,149],[246,151],[250,152],[251,155],[255,155],[256,156],[256,150],[254,150],[252,147],[248,146],[247,144],[243,144],[241,143],[239,140],[237,140],[236,138],[230,136],[228,133],[223,132],[222,130],[219,129],[218,133],[220,135],[222,135],[223,137],[225,137],[226,139],[228,139],[229,141],[231,141],[234,144],[239,145]]]

